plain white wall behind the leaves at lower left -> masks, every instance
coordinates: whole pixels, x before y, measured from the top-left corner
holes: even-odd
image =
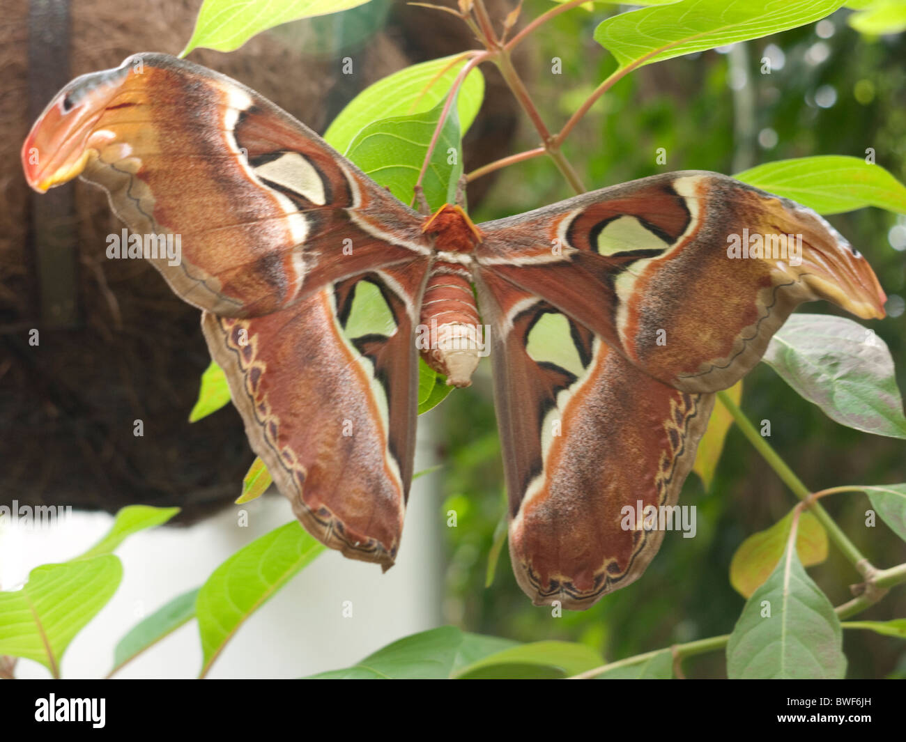
[[[429,451],[429,426],[420,428],[419,451]],[[417,456],[415,470],[428,467],[428,458]],[[433,487],[437,476],[413,483],[400,554],[388,573],[336,552],[320,555],[242,626],[209,677],[298,678],[334,670],[439,625],[444,521]],[[117,550],[124,568],[120,589],[63,655],[63,678],[103,677],[111,670],[116,642],[143,616],[197,587],[238,548],[293,517],[282,496],[243,507],[247,527],[236,525],[236,506],[189,528],[160,527],[130,536]],[[0,532],[0,586],[14,589],[38,564],[80,554],[111,523],[105,514],[73,513],[53,530],[6,525]],[[342,617],[343,601],[352,601],[352,618]],[[198,627],[192,621],[115,677],[193,678],[200,667]],[[36,662],[19,660],[16,676],[46,678],[49,673]]]

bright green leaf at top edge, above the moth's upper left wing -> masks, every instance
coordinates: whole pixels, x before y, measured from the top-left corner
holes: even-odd
[[[325,15],[364,5],[368,0],[205,0],[198,11],[195,31],[186,48],[186,56],[203,46],[218,52],[232,52],[255,34],[275,25]]]

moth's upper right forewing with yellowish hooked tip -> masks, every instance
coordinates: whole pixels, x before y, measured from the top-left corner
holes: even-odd
[[[480,225],[482,269],[679,390],[726,389],[798,304],[883,316],[872,268],[814,211],[733,178],[642,178]]]

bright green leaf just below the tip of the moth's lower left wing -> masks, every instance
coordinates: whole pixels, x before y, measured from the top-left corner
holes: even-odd
[[[196,602],[202,677],[243,622],[323,550],[293,521],[255,539],[214,570]]]

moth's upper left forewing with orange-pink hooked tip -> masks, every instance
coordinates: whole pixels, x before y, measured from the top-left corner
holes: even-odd
[[[221,316],[278,312],[344,278],[429,256],[418,215],[312,130],[167,54],[135,54],[71,82],[22,158],[36,190],[80,174],[106,189],[139,255],[180,297]]]

